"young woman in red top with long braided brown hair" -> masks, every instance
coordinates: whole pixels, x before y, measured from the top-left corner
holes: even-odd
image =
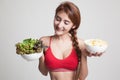
[[[54,17],[55,34],[41,37],[44,55],[39,60],[39,70],[50,74],[51,80],[85,80],[88,75],[84,41],[77,38],[81,22],[78,7],[72,2],[61,3]],[[94,56],[100,56],[96,54]]]

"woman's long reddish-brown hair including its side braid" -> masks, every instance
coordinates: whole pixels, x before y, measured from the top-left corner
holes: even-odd
[[[75,50],[77,52],[78,59],[80,61],[81,50],[78,46],[77,32],[76,32],[76,30],[79,28],[80,22],[81,22],[80,11],[75,4],[73,4],[72,2],[69,2],[69,1],[61,3],[56,9],[56,14],[60,11],[64,11],[68,15],[70,20],[73,22],[73,26],[75,26],[75,28],[71,29],[69,31],[69,33],[72,36],[71,37],[72,44],[73,44],[73,47],[75,48]]]

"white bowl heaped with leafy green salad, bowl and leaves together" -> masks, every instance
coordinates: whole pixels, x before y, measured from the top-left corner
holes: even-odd
[[[16,53],[27,61],[39,59],[43,55],[42,41],[27,38],[15,44]]]

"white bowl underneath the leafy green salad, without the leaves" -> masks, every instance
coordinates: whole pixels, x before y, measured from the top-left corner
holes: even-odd
[[[43,51],[41,53],[22,54],[21,56],[27,61],[33,61],[39,59],[42,55]]]

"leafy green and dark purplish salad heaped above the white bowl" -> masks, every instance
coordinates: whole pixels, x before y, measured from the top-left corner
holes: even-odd
[[[15,44],[17,54],[34,54],[42,51],[42,41],[38,39],[24,39],[22,42]]]

